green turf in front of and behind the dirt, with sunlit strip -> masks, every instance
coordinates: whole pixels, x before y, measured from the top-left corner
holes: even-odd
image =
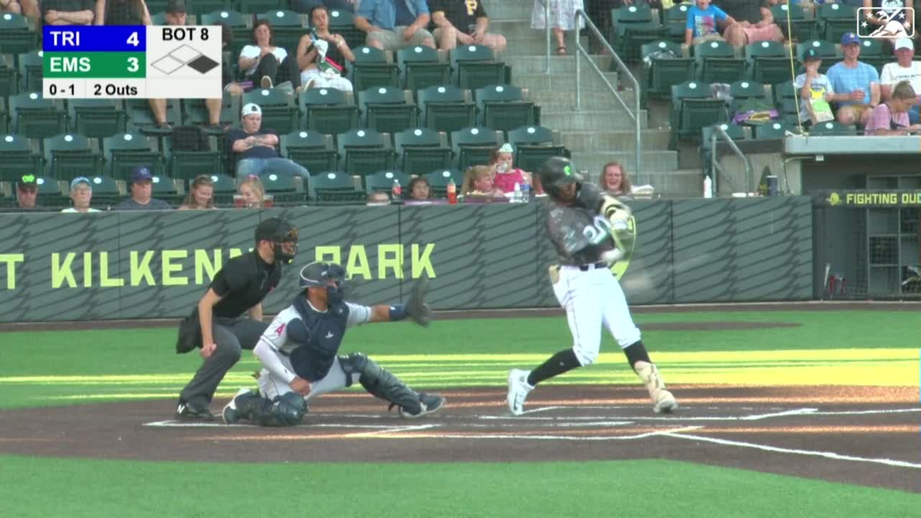
[[[744,331],[647,331],[669,383],[917,386],[912,312],[709,312],[637,315],[656,322],[796,322]],[[200,362],[175,332],[6,333],[0,407],[175,398]],[[375,324],[361,350],[414,387],[505,384],[570,343],[563,317]],[[606,337],[600,361],[554,383],[637,383]],[[218,396],[245,384],[250,353]],[[2,423],[0,423],[2,426]],[[76,484],[76,480],[91,483]],[[401,481],[394,484],[394,480]],[[6,516],[909,516],[921,497],[882,489],[664,461],[462,465],[230,465],[0,456]],[[55,499],[49,499],[53,494]],[[663,498],[670,495],[670,498]],[[361,511],[359,511],[361,510]]]

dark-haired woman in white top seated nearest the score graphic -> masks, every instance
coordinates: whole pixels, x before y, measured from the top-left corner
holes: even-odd
[[[289,56],[287,51],[275,46],[272,24],[268,20],[256,20],[252,24],[252,43],[239,52],[237,64],[246,71],[246,77],[253,83],[258,79],[262,88],[290,81],[295,91],[300,90],[300,73],[297,59]]]

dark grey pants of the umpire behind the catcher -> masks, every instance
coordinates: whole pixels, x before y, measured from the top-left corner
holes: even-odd
[[[182,389],[180,398],[187,403],[208,406],[217,385],[239,361],[242,349],[252,350],[256,347],[259,337],[269,326],[248,318],[216,318],[213,325],[217,347],[211,356],[204,359],[192,381]]]

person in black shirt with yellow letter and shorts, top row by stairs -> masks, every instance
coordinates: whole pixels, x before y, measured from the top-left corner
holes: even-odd
[[[449,51],[461,45],[485,45],[495,53],[506,50],[506,39],[501,34],[486,32],[489,18],[483,0],[432,0],[432,22],[437,26],[432,32],[438,48]]]

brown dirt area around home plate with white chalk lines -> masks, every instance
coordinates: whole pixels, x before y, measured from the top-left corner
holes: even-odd
[[[914,387],[541,387],[523,416],[505,392],[453,390],[408,420],[363,393],[328,394],[304,425],[172,418],[167,400],[0,411],[0,453],[213,462],[523,462],[658,458],[921,492]],[[216,402],[214,410],[223,402]],[[565,444],[565,447],[562,447]]]

